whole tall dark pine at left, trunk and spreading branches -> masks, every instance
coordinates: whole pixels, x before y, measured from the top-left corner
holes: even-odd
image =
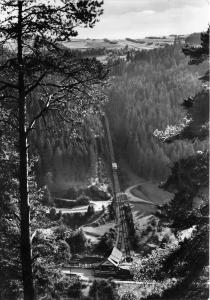
[[[93,112],[102,100],[97,90],[106,72],[92,60],[77,61],[61,41],[76,36],[78,26],[92,27],[102,1],[0,1],[1,124],[18,134],[20,252],[24,299],[34,299],[30,204],[28,198],[28,137],[37,120],[48,116],[73,124]],[[93,87],[96,92],[93,93]],[[97,94],[97,96],[96,96]]]

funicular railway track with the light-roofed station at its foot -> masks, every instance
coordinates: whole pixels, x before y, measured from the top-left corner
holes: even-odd
[[[90,265],[71,265],[67,269],[89,269],[93,271],[93,277],[114,277],[120,279],[130,279],[132,276],[129,271],[129,262],[132,261],[133,251],[130,243],[131,230],[129,224],[133,224],[133,216],[127,195],[121,192],[118,178],[117,164],[115,162],[112,139],[109,129],[109,123],[106,115],[102,116],[105,131],[106,144],[108,146],[108,158],[111,166],[111,177],[113,186],[113,199],[115,209],[115,219],[117,228],[117,237],[114,248],[108,259],[102,263]],[[107,264],[109,263],[109,264]],[[127,264],[127,265],[126,265]],[[91,271],[91,272],[92,272]],[[71,273],[71,272],[70,272]],[[78,272],[76,272],[78,273]],[[91,275],[91,276],[92,276]]]

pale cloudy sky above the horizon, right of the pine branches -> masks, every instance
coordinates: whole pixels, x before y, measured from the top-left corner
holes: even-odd
[[[104,13],[78,38],[142,38],[205,31],[210,0],[104,0]]]

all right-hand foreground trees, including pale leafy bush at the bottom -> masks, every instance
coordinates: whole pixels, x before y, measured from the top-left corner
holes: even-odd
[[[186,46],[189,64],[199,65],[209,58],[209,28],[201,34],[198,47]],[[199,143],[208,139],[209,73],[203,69],[202,89],[185,99],[182,106],[189,122],[181,129],[159,132],[160,140],[188,139]],[[205,109],[204,109],[205,108]],[[146,299],[207,299],[209,263],[209,153],[199,150],[179,159],[162,188],[174,192],[167,204],[156,213],[163,228],[171,228],[178,243],[158,247],[134,264],[134,278],[154,281],[153,292]],[[186,235],[187,233],[187,235]],[[184,234],[184,235],[183,235]],[[155,268],[154,268],[155,266]]]

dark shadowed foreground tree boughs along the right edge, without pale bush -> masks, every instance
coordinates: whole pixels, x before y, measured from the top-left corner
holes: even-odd
[[[201,34],[199,47],[186,46],[185,55],[190,57],[190,64],[203,63],[209,57],[209,28]],[[174,198],[160,207],[159,218],[167,222],[176,233],[187,229],[191,234],[179,242],[178,247],[164,257],[158,273],[176,277],[177,284],[163,293],[164,299],[207,299],[206,276],[208,266],[208,184],[209,184],[209,75],[200,78],[202,90],[195,96],[184,100],[182,104],[187,110],[187,122],[168,127],[165,132],[156,131],[165,142],[177,139],[200,140],[200,150],[194,155],[177,161],[171,175],[163,187],[175,193]],[[201,142],[202,141],[202,142]],[[157,274],[157,273],[156,273]],[[154,295],[158,297],[158,295]],[[153,299],[153,298],[152,298]],[[162,298],[161,298],[162,299]]]

